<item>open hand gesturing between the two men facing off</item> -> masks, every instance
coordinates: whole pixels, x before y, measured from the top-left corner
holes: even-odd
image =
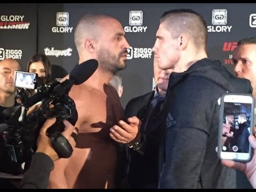
[[[133,116],[127,119],[129,124],[124,121],[119,121],[118,125],[110,128],[110,137],[119,143],[131,143],[140,140],[141,121],[138,117]]]

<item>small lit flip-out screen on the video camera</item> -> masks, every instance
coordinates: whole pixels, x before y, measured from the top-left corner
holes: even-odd
[[[35,73],[28,73],[24,71],[14,71],[13,85],[26,89],[35,89]]]

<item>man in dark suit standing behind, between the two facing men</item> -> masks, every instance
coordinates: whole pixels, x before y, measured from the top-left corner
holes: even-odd
[[[134,118],[133,116],[141,120],[139,131],[131,133],[133,134],[131,138],[135,138],[124,142],[128,144],[125,145],[127,157],[125,177],[129,188],[157,188],[158,126],[161,122],[161,106],[165,99],[171,72],[172,70],[159,69],[154,58],[155,90],[130,100],[125,108],[128,121],[130,117]],[[125,125],[129,126],[126,123]],[[111,128],[112,138],[116,141],[119,135],[114,137],[113,130],[118,132],[119,127],[126,129],[121,125],[118,128],[117,125]],[[125,134],[122,132],[119,134],[125,137],[130,132],[126,131]]]

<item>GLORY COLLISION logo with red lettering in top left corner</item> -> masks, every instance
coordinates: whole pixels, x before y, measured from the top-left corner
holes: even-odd
[[[23,19],[24,15],[1,15],[0,29],[28,29],[30,22]]]

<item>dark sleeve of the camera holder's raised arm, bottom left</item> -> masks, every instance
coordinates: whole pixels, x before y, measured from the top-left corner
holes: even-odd
[[[50,172],[53,170],[52,159],[44,153],[33,155],[30,167],[20,182],[20,189],[46,189]]]

